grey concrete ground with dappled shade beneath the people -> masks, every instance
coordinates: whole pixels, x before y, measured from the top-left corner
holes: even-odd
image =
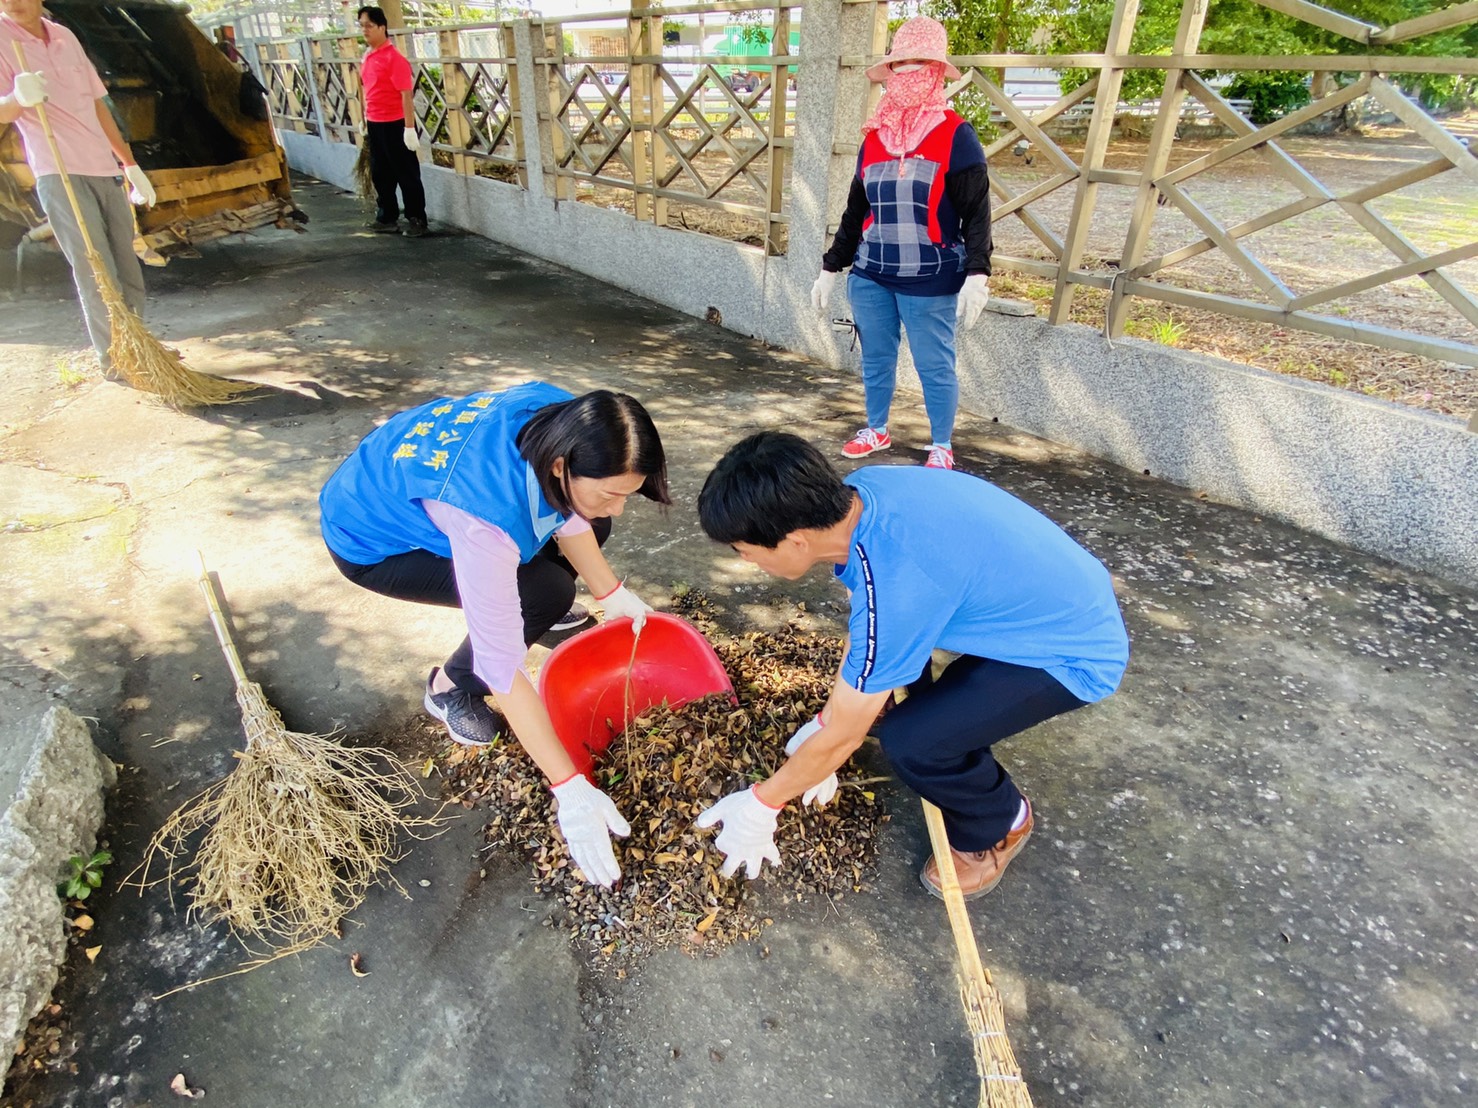
[[[114,880],[241,742],[195,551],[297,730],[417,731],[460,634],[353,588],[318,539],[318,488],[377,420],[529,377],[625,389],[677,495],[619,521],[633,587],[701,587],[735,629],[800,600],[822,625],[842,610],[828,575],[770,581],[709,544],[692,505],[752,428],[848,436],[854,378],[482,239],[362,233],[322,185],[299,202],[304,235],[149,273],[155,334],[262,399],[194,415],[61,381],[84,340],[55,259],[31,254],[3,309],[3,665],[55,671],[123,767],[118,861],[90,901],[102,951],[58,991],[75,1073],[16,1104],[167,1105],[176,1073],[241,1107],[974,1104],[900,787],[875,891],[774,904],[763,941],[715,957],[594,972],[539,925],[528,876],[479,851],[470,811],[409,844],[405,891],[375,889],[341,943],[154,999],[241,956],[166,889]],[[885,461],[916,464],[916,397],[897,412]],[[956,451],[1108,564],[1134,643],[1114,697],[1002,748],[1039,827],[971,917],[1036,1102],[1478,1099],[1478,597],[968,415]]]

